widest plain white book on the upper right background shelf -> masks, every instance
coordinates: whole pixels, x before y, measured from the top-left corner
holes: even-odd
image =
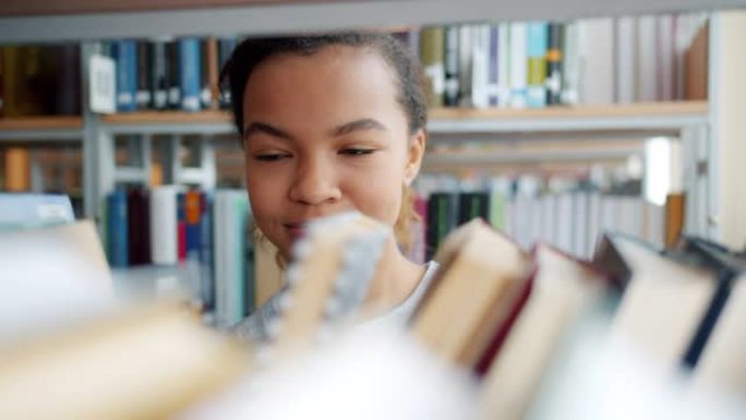
[[[604,105],[614,101],[614,21],[591,19],[578,24],[580,56],[579,101]]]

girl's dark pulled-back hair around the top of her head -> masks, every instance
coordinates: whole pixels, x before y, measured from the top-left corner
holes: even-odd
[[[229,93],[236,129],[243,137],[243,94],[246,81],[264,60],[280,53],[312,56],[330,46],[368,48],[378,52],[397,76],[397,100],[407,115],[410,134],[424,129],[428,104],[419,61],[397,38],[384,33],[339,33],[298,37],[249,38],[231,55],[220,73],[220,86]]]

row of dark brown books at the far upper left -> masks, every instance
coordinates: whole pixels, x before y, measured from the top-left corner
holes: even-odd
[[[0,117],[80,113],[77,45],[0,47]]]

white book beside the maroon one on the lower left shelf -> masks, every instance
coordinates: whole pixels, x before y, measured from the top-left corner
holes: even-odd
[[[151,191],[151,259],[153,264],[175,265],[179,261],[177,228],[178,185],[156,187]]]

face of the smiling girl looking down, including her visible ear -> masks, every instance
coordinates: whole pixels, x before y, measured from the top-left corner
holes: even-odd
[[[377,52],[344,46],[278,55],[249,77],[246,185],[257,227],[284,256],[313,218],[358,209],[396,223],[424,133],[410,137],[395,81]]]

